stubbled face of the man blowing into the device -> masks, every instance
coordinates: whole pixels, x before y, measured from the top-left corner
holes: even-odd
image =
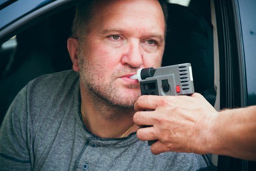
[[[130,108],[140,96],[139,68],[160,67],[164,16],[156,0],[101,1],[94,6],[79,51],[84,86],[116,106]]]

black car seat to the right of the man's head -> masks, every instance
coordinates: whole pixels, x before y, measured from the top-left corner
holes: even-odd
[[[214,105],[216,95],[212,26],[188,7],[177,4],[167,4],[167,7],[167,34],[162,66],[191,63],[195,92],[201,93]]]

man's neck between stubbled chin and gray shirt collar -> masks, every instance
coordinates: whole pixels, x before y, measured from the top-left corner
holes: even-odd
[[[82,84],[80,90],[83,123],[91,133],[102,138],[119,138],[133,125],[134,108],[113,108],[89,93]],[[137,129],[134,125],[126,135]]]

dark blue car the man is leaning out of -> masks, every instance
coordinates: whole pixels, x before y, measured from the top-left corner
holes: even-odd
[[[66,44],[77,2],[0,1],[0,123],[29,80],[72,69]],[[162,66],[191,63],[195,91],[218,111],[255,105],[255,1],[170,0],[167,7]],[[211,160],[220,170],[256,169],[252,161]]]

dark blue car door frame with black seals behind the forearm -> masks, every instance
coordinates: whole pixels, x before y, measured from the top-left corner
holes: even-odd
[[[255,105],[256,3],[216,0],[214,5],[219,52],[218,108],[232,109]],[[218,168],[256,170],[256,162],[219,156]]]

